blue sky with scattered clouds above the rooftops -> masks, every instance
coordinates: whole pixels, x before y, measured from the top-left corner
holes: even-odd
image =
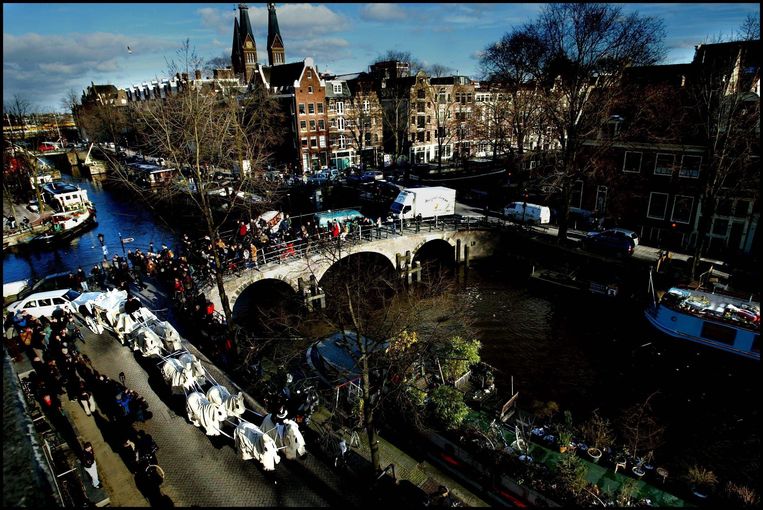
[[[205,60],[230,60],[236,3],[4,3],[3,101],[19,95],[39,112],[64,111],[67,92],[91,82],[129,87],[167,76],[190,40]],[[258,61],[267,64],[267,4],[247,4]],[[694,46],[731,38],[759,3],[618,4],[663,20],[665,64],[690,62]],[[540,3],[276,4],[287,62],[312,57],[320,72],[366,71],[387,50],[409,51],[480,78],[485,47],[533,21]],[[128,46],[132,52],[128,51]]]

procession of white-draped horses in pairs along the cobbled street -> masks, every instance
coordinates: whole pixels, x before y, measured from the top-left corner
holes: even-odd
[[[203,428],[208,436],[232,439],[243,460],[254,459],[265,471],[275,470],[281,460],[279,452],[289,460],[307,455],[299,426],[287,418],[285,408],[264,417],[247,409],[244,394],[232,394],[219,384],[202,361],[183,346],[169,322],[160,320],[144,306],[127,313],[127,301],[126,291],[113,289],[97,293],[80,306],[78,313],[93,333],[111,331],[122,345],[145,358],[159,359],[164,381],[173,393],[184,394],[188,420],[193,425]],[[246,413],[261,419],[261,424],[245,419]],[[226,426],[233,428],[232,435],[223,430]]]

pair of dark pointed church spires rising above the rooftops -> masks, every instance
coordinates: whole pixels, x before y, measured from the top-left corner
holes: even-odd
[[[249,21],[249,8],[246,4],[239,4],[239,19],[233,22],[233,48],[231,61],[233,72],[243,75],[244,82],[252,80],[257,69],[257,45],[254,42],[252,24]],[[268,64],[277,66],[286,63],[286,52],[283,47],[283,39],[278,29],[276,17],[276,4],[268,4]]]

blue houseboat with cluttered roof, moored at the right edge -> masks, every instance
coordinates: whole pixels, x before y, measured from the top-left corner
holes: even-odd
[[[673,287],[645,315],[666,335],[760,361],[760,303],[752,298]]]

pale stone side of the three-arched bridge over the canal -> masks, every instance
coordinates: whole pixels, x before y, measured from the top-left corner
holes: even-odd
[[[443,242],[447,243],[453,250],[453,260],[460,262],[492,255],[499,237],[495,226],[491,228],[487,225],[478,228],[450,226],[450,228],[425,230],[422,228],[421,231],[415,232],[406,229],[403,235],[400,235],[384,228],[382,232],[386,234],[386,237],[375,238],[371,235],[369,236],[370,239],[355,238],[338,243],[329,241],[323,249],[306,250],[301,256],[292,255],[282,261],[261,264],[259,269],[247,269],[240,275],[227,275],[224,279],[225,293],[228,296],[231,310],[234,309],[239,296],[257,282],[267,279],[280,280],[288,284],[295,292],[303,292],[305,286],[301,283],[311,281],[311,277],[314,277],[314,282],[320,282],[332,265],[350,255],[378,254],[386,258],[396,270],[410,270],[412,268],[410,261],[430,243],[439,243],[440,249],[447,249],[442,244]],[[373,234],[373,232],[369,233]],[[378,231],[376,231],[376,235],[379,235]],[[409,257],[406,257],[406,254],[409,254]],[[401,277],[404,276],[405,273],[401,272]],[[214,303],[215,309],[222,310],[220,294],[214,281],[202,290],[208,299]]]

